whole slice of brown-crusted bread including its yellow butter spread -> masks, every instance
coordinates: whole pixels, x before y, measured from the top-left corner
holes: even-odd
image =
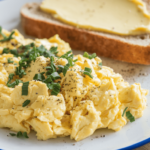
[[[44,0],[23,6],[21,22],[28,35],[49,38],[59,34],[73,49],[148,65],[147,6],[147,0]]]

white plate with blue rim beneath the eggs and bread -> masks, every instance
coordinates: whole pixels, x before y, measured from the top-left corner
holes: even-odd
[[[0,26],[8,30],[17,28],[23,33],[19,11],[27,2],[40,2],[40,0],[0,0]],[[74,51],[74,53],[82,52]],[[150,66],[133,65],[107,58],[102,58],[102,60],[103,65],[110,66],[115,72],[122,74],[128,82],[140,82],[142,88],[150,89]],[[89,138],[75,142],[69,137],[38,141],[34,132],[29,135],[29,139],[18,139],[7,136],[10,133],[8,129],[0,129],[0,148],[4,150],[131,150],[150,142],[150,96],[147,96],[147,99],[148,106],[143,117],[133,123],[128,123],[119,132],[99,129]]]

